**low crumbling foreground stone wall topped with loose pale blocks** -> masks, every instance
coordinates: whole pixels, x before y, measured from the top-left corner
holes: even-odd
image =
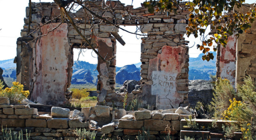
[[[156,140],[168,133],[166,125],[173,128],[171,134],[176,140],[180,134],[180,120],[192,114],[189,108],[183,107],[126,112],[109,106],[82,108],[81,112],[52,107],[51,112],[44,113],[29,105],[9,104],[9,98],[0,98],[0,123],[3,129],[12,132],[23,130],[23,134],[27,129],[32,140],[75,140],[75,132],[79,128],[95,131],[96,140],[101,140],[103,134],[113,140],[117,140],[116,137],[134,140],[144,128],[149,130],[150,140]]]

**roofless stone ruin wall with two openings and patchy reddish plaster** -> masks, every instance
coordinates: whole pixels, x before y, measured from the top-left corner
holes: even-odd
[[[100,4],[100,0],[93,3]],[[89,1],[84,1],[84,5],[118,26],[136,25],[147,33],[141,43],[141,87],[134,92],[143,105],[150,109],[188,105],[189,55],[186,47],[188,42],[183,36],[189,11],[185,3],[180,3],[177,14],[170,13],[168,16],[157,11],[150,14],[148,8],[143,6],[134,9],[117,1],[103,2],[103,6],[112,6],[113,12],[99,10]],[[67,88],[70,87],[73,71],[73,48],[90,49],[70,23],[58,25],[61,21],[59,15],[60,9],[56,3],[32,3],[30,31],[33,32],[28,33],[27,7],[25,25],[21,37],[17,39],[17,81],[24,85],[24,90],[29,90],[32,101],[46,105],[63,105],[72,98],[72,92]],[[81,30],[82,34],[87,39],[91,38],[94,48],[106,60],[98,59],[98,104],[122,106],[124,96],[114,91],[116,39],[122,42],[118,37],[120,29],[96,17],[85,19],[82,8],[75,13],[70,12],[70,16],[79,28],[84,29]],[[93,30],[90,22],[93,22]],[[47,35],[40,36],[44,34]],[[135,94],[128,93],[128,101]]]

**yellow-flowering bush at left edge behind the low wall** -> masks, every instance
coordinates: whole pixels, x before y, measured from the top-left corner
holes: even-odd
[[[23,99],[29,96],[29,91],[23,90],[23,85],[19,82],[13,82],[13,87],[6,89],[0,89],[0,97],[8,97],[10,103],[20,103]]]

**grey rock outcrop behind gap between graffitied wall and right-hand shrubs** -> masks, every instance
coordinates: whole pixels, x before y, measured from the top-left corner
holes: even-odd
[[[198,101],[209,103],[212,101],[212,81],[189,80],[189,103],[195,106]]]

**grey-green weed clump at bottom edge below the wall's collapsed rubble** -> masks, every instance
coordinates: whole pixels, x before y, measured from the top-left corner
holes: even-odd
[[[95,131],[90,132],[86,131],[86,129],[76,129],[76,135],[79,140],[95,140],[96,133]]]

